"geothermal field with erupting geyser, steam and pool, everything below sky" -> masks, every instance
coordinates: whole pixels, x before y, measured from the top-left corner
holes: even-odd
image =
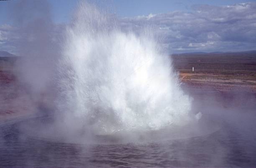
[[[0,51],[0,167],[256,165],[255,50],[170,54],[97,5],[71,18]]]

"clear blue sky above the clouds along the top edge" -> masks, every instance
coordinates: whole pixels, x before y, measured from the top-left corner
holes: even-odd
[[[232,5],[246,3],[248,0],[90,0],[102,6],[119,18],[169,13],[175,10],[191,11],[194,5]],[[255,0],[256,1],[256,0]],[[54,21],[67,22],[78,0],[49,0],[52,6]]]

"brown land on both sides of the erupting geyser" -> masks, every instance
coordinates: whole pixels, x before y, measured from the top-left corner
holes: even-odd
[[[33,114],[38,104],[17,81],[17,59],[22,58],[0,57],[0,120]],[[189,88],[256,94],[256,52],[174,54],[172,64]]]

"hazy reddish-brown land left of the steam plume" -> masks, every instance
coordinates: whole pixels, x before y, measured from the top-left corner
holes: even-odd
[[[15,76],[16,57],[0,57],[0,121],[32,114],[33,101]]]

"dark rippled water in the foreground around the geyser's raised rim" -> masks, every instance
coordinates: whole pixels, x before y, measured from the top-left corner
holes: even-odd
[[[255,99],[248,95],[233,98],[216,94],[209,93],[210,99],[198,96],[193,108],[207,116],[202,119],[216,120],[218,129],[182,139],[123,144],[61,143],[22,133],[20,124],[26,120],[3,123],[0,167],[255,167],[256,108],[251,102]],[[236,99],[243,102],[237,104]]]

